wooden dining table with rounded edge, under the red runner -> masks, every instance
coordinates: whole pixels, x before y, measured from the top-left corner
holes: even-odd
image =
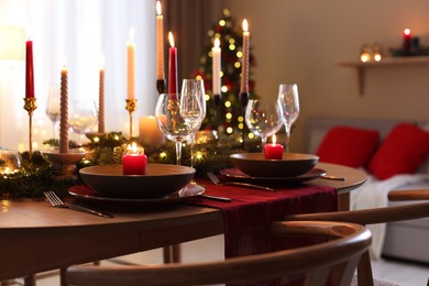
[[[329,163],[317,167],[344,180],[319,177],[302,184],[333,187],[338,209],[349,209],[350,191],[364,184],[365,172]],[[222,212],[201,205],[110,208],[109,212],[114,218],[53,208],[46,200],[0,200],[0,280],[224,233]]]

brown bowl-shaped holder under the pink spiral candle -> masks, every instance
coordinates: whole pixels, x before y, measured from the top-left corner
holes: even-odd
[[[42,157],[53,166],[62,169],[62,176],[76,176],[76,164],[79,163],[87,152],[80,150],[70,150],[68,153],[59,153],[58,150],[42,151]]]

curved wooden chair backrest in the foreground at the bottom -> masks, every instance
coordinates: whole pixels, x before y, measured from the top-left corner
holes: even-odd
[[[224,261],[153,266],[85,266],[66,271],[70,285],[207,285],[270,280],[294,275],[301,285],[350,285],[371,232],[343,222],[273,222],[274,235],[329,238],[299,249],[227,258]],[[297,276],[298,275],[298,276]],[[286,276],[290,277],[290,276]]]

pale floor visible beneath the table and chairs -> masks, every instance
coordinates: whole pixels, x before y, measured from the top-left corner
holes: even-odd
[[[212,237],[183,244],[183,260],[185,262],[204,261],[207,257],[211,260],[223,258],[223,235]],[[133,255],[118,257],[113,261],[129,262],[136,264],[158,264],[162,263],[162,250],[142,252]],[[103,261],[101,264],[111,264],[110,261]],[[382,279],[394,285],[402,286],[427,286],[429,279],[429,265],[419,265],[411,263],[397,262],[392,260],[382,260],[373,262],[374,278]],[[16,280],[15,284],[21,284]],[[57,272],[42,273],[37,275],[37,286],[57,286]],[[391,285],[391,284],[388,284]]]

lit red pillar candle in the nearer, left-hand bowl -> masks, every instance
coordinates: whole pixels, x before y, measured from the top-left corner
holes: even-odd
[[[138,148],[135,143],[128,145],[128,151],[122,158],[123,175],[146,175],[147,157],[143,148]]]

